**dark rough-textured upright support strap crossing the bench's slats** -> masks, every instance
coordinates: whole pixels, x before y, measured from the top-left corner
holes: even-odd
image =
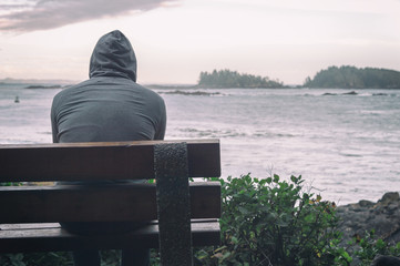
[[[154,146],[161,264],[192,266],[186,143]]]

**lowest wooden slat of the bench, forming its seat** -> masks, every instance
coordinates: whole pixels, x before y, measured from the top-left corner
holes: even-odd
[[[18,229],[12,229],[12,227]],[[135,232],[121,235],[81,236],[71,234],[58,224],[42,224],[39,227],[30,225],[0,225],[0,250],[2,253],[18,252],[51,252],[74,250],[88,247],[99,249],[119,249],[132,246],[158,247],[158,226],[151,224]],[[193,221],[192,236],[194,246],[218,245],[219,223],[217,219]]]

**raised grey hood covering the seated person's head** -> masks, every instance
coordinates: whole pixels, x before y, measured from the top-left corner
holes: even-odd
[[[121,31],[100,38],[90,60],[89,76],[122,76],[136,82],[135,52]]]

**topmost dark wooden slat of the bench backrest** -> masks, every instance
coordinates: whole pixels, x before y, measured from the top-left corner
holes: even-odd
[[[188,176],[220,175],[218,140],[182,142],[187,143]],[[154,178],[157,143],[168,142],[0,145],[0,182]]]

